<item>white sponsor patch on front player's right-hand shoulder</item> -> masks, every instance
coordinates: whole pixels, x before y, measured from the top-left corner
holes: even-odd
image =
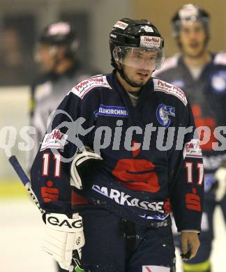
[[[163,93],[169,93],[172,96],[176,96],[183,102],[184,105],[188,104],[185,93],[179,87],[169,84],[163,80],[158,80],[157,78],[153,78],[153,84],[155,91],[163,91]]]

